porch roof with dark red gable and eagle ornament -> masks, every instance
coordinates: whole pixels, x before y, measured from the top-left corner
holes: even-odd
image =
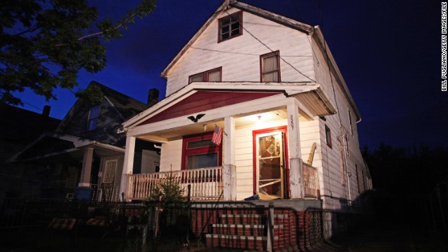
[[[228,116],[241,120],[245,116],[271,113],[286,118],[283,114],[286,105],[293,102],[291,99],[295,99],[306,119],[336,113],[335,106],[316,83],[198,82],[127,120],[123,127],[128,137],[164,142],[203,132],[207,130],[204,125],[223,127],[223,118]],[[200,120],[191,120],[199,115]]]

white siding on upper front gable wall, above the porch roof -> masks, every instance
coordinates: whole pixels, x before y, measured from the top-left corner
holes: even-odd
[[[228,13],[236,11],[231,8]],[[306,34],[251,13],[244,12],[243,20],[243,34],[221,43],[217,38],[218,20],[212,22],[167,73],[167,96],[188,85],[188,76],[221,66],[223,81],[259,82],[260,55],[276,50],[281,57],[282,82],[314,79],[311,45]]]

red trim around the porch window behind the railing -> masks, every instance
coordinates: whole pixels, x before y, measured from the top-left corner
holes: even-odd
[[[207,153],[218,153],[218,164],[216,164],[216,167],[221,166],[223,163],[223,144],[219,146],[206,146],[206,147],[199,147],[199,148],[191,148],[187,149],[187,145],[189,142],[192,141],[200,141],[200,140],[207,140],[211,139],[213,137],[213,132],[204,132],[201,134],[193,134],[189,136],[184,136],[182,141],[182,164],[181,169],[187,169],[188,167],[188,155],[198,155],[198,154],[207,154]]]

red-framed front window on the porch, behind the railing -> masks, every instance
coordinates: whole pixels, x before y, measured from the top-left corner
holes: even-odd
[[[198,169],[221,166],[222,144],[211,142],[213,132],[183,138],[182,169]]]

